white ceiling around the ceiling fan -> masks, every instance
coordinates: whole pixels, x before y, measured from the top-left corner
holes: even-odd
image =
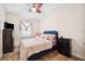
[[[47,16],[52,11],[57,11],[65,7],[66,4],[61,3],[44,3],[42,5],[42,13],[38,14],[34,12],[29,12],[30,3],[4,3],[4,9],[8,12],[15,13],[25,18],[43,18]]]

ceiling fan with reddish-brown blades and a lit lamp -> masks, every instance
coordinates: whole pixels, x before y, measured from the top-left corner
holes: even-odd
[[[43,5],[43,3],[31,3],[29,11],[36,12],[36,13],[41,13],[42,5]]]

